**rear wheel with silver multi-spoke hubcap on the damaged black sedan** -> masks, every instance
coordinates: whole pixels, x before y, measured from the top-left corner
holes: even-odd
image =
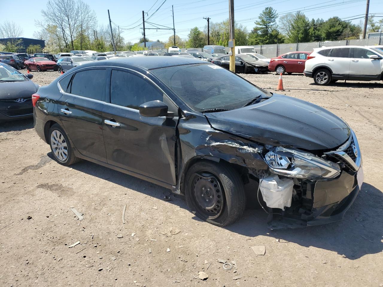
[[[61,165],[72,165],[80,160],[74,155],[68,137],[59,124],[54,124],[49,129],[48,139],[54,158]]]

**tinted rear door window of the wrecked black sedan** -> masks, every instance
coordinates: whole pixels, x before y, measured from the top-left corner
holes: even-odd
[[[77,72],[70,83],[70,93],[102,101],[106,90],[105,79],[105,69],[90,69]]]

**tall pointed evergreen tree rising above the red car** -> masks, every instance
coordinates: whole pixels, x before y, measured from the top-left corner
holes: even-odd
[[[284,37],[280,35],[277,25],[278,13],[272,7],[266,7],[255,21],[255,27],[249,34],[250,45],[275,44],[283,42]]]

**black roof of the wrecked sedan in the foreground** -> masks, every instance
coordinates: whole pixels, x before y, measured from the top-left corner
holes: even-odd
[[[90,62],[83,67],[91,66],[116,66],[116,67],[141,67],[145,70],[151,70],[155,68],[171,67],[178,65],[188,64],[206,64],[206,61],[198,60],[197,58],[186,57],[164,57],[164,56],[152,56],[152,57],[117,57],[115,59],[107,59],[100,62]]]

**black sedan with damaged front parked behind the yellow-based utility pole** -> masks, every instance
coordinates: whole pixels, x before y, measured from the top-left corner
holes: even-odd
[[[230,56],[226,55],[211,61],[216,65],[220,65],[229,69]],[[247,54],[236,54],[236,73],[267,73],[268,64],[264,61],[257,60]]]

